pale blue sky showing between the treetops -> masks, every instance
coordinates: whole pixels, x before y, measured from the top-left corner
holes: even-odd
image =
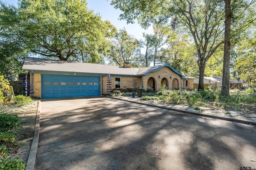
[[[18,0],[3,0],[8,4],[14,4],[17,6]],[[121,10],[115,9],[114,6],[110,5],[111,0],[87,0],[87,7],[93,10],[94,13],[99,13],[102,20],[109,20],[116,28],[123,29],[125,27],[128,34],[133,35],[136,39],[144,39],[143,33],[153,34],[152,27],[147,30],[142,29],[138,23],[127,24],[126,20],[118,20],[119,15],[122,13]]]

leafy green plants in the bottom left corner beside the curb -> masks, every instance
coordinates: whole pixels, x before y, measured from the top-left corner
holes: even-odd
[[[16,157],[12,160],[9,159],[10,155],[7,154],[7,148],[0,146],[0,169],[1,170],[25,170],[26,162],[21,162],[20,158]]]

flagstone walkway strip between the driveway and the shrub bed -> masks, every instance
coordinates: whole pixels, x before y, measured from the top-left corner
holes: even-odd
[[[117,100],[124,100],[127,102],[133,102],[136,104],[143,104],[146,106],[159,107],[163,109],[182,111],[182,112],[206,116],[206,117],[213,117],[216,119],[224,119],[228,121],[236,121],[240,123],[256,125],[256,113],[246,114],[246,113],[243,113],[242,111],[214,109],[210,107],[200,107],[200,110],[195,110],[194,107],[190,107],[190,106],[166,104],[158,101],[144,101],[144,100],[140,100],[140,98],[138,98],[137,96],[135,96],[135,98],[132,98],[132,96],[115,96],[111,98],[114,98]]]

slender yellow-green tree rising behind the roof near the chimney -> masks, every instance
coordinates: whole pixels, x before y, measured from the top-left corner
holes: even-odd
[[[122,66],[126,61],[132,62],[139,49],[139,41],[129,35],[125,29],[120,29],[112,39],[112,46],[107,55],[108,60],[111,64]]]

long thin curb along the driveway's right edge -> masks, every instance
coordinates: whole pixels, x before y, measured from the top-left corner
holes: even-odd
[[[141,104],[141,105],[146,105],[146,106],[151,106],[151,107],[158,107],[158,108],[161,108],[161,109],[168,109],[168,110],[173,110],[173,111],[182,111],[182,112],[185,112],[185,113],[200,115],[200,116],[204,116],[204,117],[211,117],[211,118],[222,119],[222,120],[226,120],[226,121],[236,121],[238,123],[246,123],[246,124],[256,125],[256,122],[248,121],[248,120],[234,119],[234,118],[230,118],[230,117],[223,117],[223,116],[216,116],[216,115],[208,115],[208,114],[199,113],[199,112],[196,112],[196,111],[187,111],[186,109],[175,109],[175,108],[170,108],[170,107],[157,106],[157,105],[153,105],[153,104],[146,104],[146,103],[141,103],[141,102],[136,102],[136,101],[131,101],[131,100],[125,100],[125,99],[120,99],[120,98],[115,98],[115,97],[110,97],[110,96],[107,96],[107,97],[114,98],[114,99],[117,99],[117,100],[123,100],[123,101],[126,101],[126,102],[131,102],[131,103],[135,103],[135,104]]]

